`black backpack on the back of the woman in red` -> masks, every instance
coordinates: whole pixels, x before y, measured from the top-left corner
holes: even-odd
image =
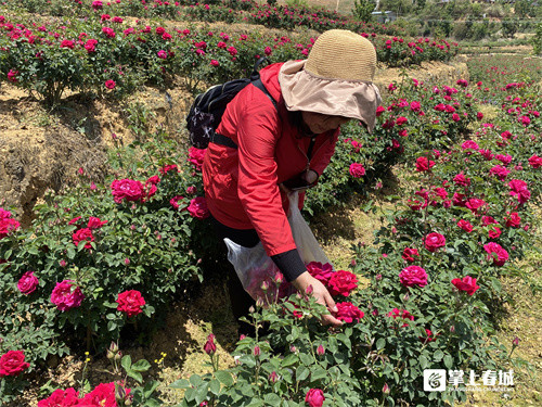
[[[276,107],[276,102],[268,92],[260,80],[258,72],[262,62],[269,62],[264,56],[256,61],[249,78],[234,79],[225,84],[215,85],[196,97],[186,116],[186,128],[190,132],[190,143],[197,149],[206,149],[209,141],[218,142],[232,148],[237,145],[228,137],[217,135],[215,129],[220,124],[228,103],[248,84],[254,84],[271,99]]]

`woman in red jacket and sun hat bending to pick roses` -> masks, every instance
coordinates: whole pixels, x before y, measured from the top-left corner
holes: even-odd
[[[372,131],[380,102],[372,82],[375,68],[376,52],[365,38],[340,29],[322,34],[307,60],[271,64],[260,71],[261,84],[237,93],[204,160],[205,193],[219,237],[246,247],[261,241],[296,289],[312,285],[312,295],[330,310],[324,325],[341,322],[332,296],[297,253],[287,191],[318,181],[340,125],[353,118]],[[236,276],[229,280],[238,318],[254,301]]]

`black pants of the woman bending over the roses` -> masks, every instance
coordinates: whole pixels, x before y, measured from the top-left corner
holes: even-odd
[[[211,218],[212,225],[217,232],[218,238],[223,243],[224,238],[230,239],[232,242],[237,243],[244,247],[254,247],[260,241],[258,233],[254,229],[233,229],[225,225],[222,225],[217,219]],[[224,244],[225,249],[225,244]],[[238,319],[241,317],[248,318],[248,309],[250,306],[256,306],[256,301],[243,289],[243,284],[235,272],[232,265],[229,267],[228,275],[228,291],[230,294],[230,303],[232,306],[232,313],[235,320],[238,322],[238,333],[248,336],[255,335],[255,329],[253,326],[242,322]]]

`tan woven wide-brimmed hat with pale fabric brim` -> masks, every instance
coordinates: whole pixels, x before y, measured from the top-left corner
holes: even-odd
[[[283,64],[279,82],[288,111],[356,118],[372,131],[382,102],[373,84],[375,69],[371,41],[346,29],[331,29],[318,37],[307,60]]]

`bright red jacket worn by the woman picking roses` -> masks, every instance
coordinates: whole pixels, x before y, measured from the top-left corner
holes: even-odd
[[[209,143],[203,165],[212,216],[230,228],[256,229],[269,256],[296,249],[286,217],[288,200],[279,185],[307,168],[310,143],[288,120],[278,78],[281,66],[276,63],[260,71],[279,110],[260,89],[248,85],[228,104],[217,128],[238,149]],[[315,138],[311,169],[322,174],[337,138],[338,130]]]

